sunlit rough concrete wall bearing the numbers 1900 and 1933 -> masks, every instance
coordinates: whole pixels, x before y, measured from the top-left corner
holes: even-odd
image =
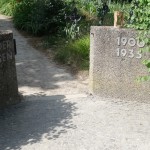
[[[131,29],[91,27],[90,92],[104,97],[149,100],[150,84],[136,81],[137,77],[147,75],[141,60],[149,56],[129,58],[129,50],[136,54],[138,46],[119,46],[117,37],[136,39],[137,33]],[[127,55],[118,57],[117,48],[126,49]]]

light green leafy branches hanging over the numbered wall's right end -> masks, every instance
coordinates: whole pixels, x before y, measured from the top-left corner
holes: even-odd
[[[140,38],[145,41],[146,47],[142,49],[144,53],[150,53],[150,0],[136,0],[133,1],[131,27],[140,30]],[[150,73],[150,58],[143,60],[143,64],[148,68]],[[149,80],[150,75],[140,78],[141,80]]]

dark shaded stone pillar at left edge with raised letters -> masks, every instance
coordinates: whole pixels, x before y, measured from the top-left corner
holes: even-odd
[[[19,101],[13,34],[0,31],[0,107]]]

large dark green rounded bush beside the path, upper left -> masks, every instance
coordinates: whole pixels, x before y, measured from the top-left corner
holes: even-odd
[[[64,26],[62,0],[22,0],[14,10],[14,24],[18,29],[35,35],[57,32]]]

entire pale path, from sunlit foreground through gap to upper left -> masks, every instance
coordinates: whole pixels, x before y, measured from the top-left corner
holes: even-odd
[[[87,96],[76,79],[11,29],[20,104],[0,110],[0,150],[149,150],[150,103]]]

